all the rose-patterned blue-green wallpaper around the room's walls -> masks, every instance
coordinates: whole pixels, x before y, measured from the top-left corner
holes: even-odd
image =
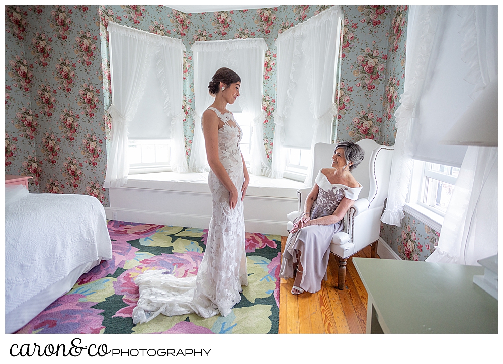
[[[191,46],[198,40],[264,38],[268,46],[262,102],[267,115],[264,148],[271,159],[274,42],[285,30],[329,7],[285,5],[186,14],[165,6],[6,6],[6,174],[33,176],[31,192],[89,194],[109,205],[108,190],[102,187],[110,135],[110,117],[104,111],[111,100],[105,30],[109,21],[184,42],[187,158],[194,133]],[[334,120],[337,135],[332,139],[372,138],[393,145],[393,113],[403,92],[408,7],[342,8],[339,114]],[[396,241],[401,232],[383,225],[381,235],[386,241]]]

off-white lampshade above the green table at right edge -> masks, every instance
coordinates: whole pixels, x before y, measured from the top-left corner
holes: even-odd
[[[498,80],[480,93],[439,144],[498,145]]]

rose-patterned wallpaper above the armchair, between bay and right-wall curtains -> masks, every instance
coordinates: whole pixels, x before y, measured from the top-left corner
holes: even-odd
[[[393,113],[405,77],[406,24],[402,21],[407,9],[344,6],[338,140],[370,138],[394,144]]]

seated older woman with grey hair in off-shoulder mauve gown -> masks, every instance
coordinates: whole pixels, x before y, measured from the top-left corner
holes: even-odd
[[[295,274],[292,294],[321,289],[333,234],[343,230],[343,218],[362,190],[351,171],[363,161],[364,151],[352,141],[336,145],[332,168],[322,168],[307,196],[304,213],[294,220],[286,241],[281,278]]]

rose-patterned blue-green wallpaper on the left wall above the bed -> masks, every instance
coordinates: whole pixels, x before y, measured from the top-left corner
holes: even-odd
[[[97,6],[6,6],[6,174],[108,206]]]

